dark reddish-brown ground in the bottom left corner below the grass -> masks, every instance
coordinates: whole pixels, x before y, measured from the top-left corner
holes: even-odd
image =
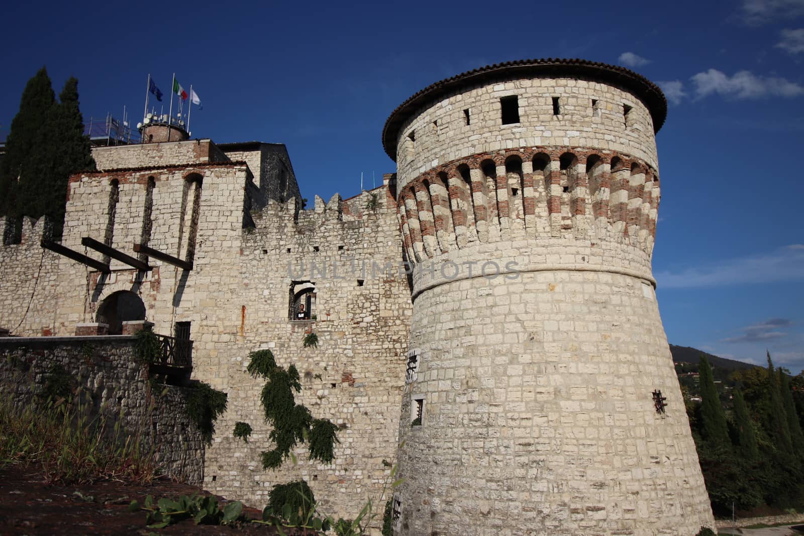
[[[170,481],[145,486],[116,481],[47,485],[41,476],[24,468],[6,468],[0,471],[0,534],[277,534],[266,526],[195,525],[191,519],[151,530],[146,527],[146,512],[129,512],[129,503],[137,499],[142,504],[146,495],[153,495],[156,500],[192,493],[204,492]],[[244,513],[250,518],[260,518],[256,509],[244,509]]]

